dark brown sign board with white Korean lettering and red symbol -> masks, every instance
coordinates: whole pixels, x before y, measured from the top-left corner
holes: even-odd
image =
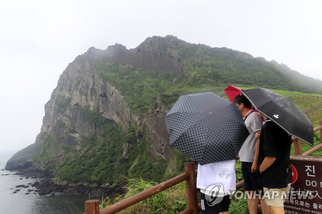
[[[322,157],[291,156],[293,182],[285,213],[322,214]]]

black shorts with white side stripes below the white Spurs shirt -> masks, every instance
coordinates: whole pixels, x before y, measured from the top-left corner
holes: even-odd
[[[213,197],[205,195],[201,192],[201,212],[202,214],[218,214],[221,212],[228,212],[229,204],[231,201],[230,195],[225,195],[223,197]],[[212,201],[215,200],[218,203],[212,204]],[[219,199],[219,200],[217,200]]]

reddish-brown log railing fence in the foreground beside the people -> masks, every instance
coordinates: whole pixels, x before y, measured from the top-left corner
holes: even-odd
[[[303,154],[302,154],[301,141],[298,138],[294,138],[294,137],[292,138],[294,142],[295,155],[307,156],[317,151],[318,149],[322,148],[322,121],[320,121],[318,127],[313,129],[314,132],[318,130],[320,130],[321,143]],[[116,213],[183,181],[186,182],[187,209],[182,211],[180,214],[197,214],[200,211],[200,203],[198,204],[198,201],[197,201],[196,175],[197,175],[197,170],[194,169],[194,163],[185,163],[184,174],[171,178],[163,183],[160,183],[147,190],[137,193],[127,199],[119,201],[118,203],[115,203],[102,210],[99,210],[99,200],[85,201],[85,214]],[[244,186],[244,181],[242,180],[236,184],[236,190],[242,188],[243,186]]]

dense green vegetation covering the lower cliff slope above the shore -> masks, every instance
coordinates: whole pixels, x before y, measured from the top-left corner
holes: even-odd
[[[142,138],[137,139],[137,127],[131,125],[127,133],[123,133],[121,129],[111,120],[107,120],[98,113],[90,111],[89,107],[78,108],[87,120],[94,123],[99,132],[90,138],[84,140],[82,148],[79,151],[70,151],[61,147],[64,156],[61,162],[50,163],[52,159],[51,143],[52,138],[45,139],[47,156],[42,156],[35,161],[49,163],[46,169],[56,171],[57,182],[68,183],[121,183],[125,177],[136,178],[142,177],[147,181],[160,182],[164,180],[164,176],[172,176],[167,171],[166,162],[157,157],[156,164],[152,164],[147,155],[148,142],[146,133]],[[48,145],[47,145],[48,144]],[[132,149],[127,156],[124,156],[124,148]],[[71,158],[72,156],[72,158]],[[185,156],[176,157],[176,168],[182,170],[183,163],[186,161]],[[50,167],[54,165],[56,168]],[[166,173],[168,172],[168,173]]]

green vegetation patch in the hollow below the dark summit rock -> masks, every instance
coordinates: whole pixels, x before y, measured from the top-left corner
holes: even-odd
[[[131,110],[135,113],[145,113],[156,102],[158,94],[169,89],[174,74],[145,71],[131,65],[120,63],[104,64],[98,67],[99,76],[113,84],[124,94]]]

